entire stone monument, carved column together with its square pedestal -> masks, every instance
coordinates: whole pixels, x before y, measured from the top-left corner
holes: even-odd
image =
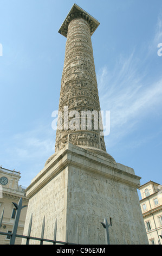
[[[79,120],[82,111],[100,111],[90,38],[98,25],[74,4],[60,28],[59,32],[67,37],[59,103],[63,120],[66,111],[79,113]],[[106,218],[111,224],[111,245],[147,244],[137,194],[140,177],[106,153],[100,127],[95,129],[93,125],[88,130],[81,123],[77,126],[77,117],[75,121],[72,115],[64,120],[62,130],[58,125],[56,154],[26,190],[29,204],[24,235],[28,234],[33,214],[31,236],[40,237],[40,223],[45,216],[44,238],[53,239],[57,220],[57,241],[103,245],[101,222]],[[66,129],[67,124],[75,129]]]

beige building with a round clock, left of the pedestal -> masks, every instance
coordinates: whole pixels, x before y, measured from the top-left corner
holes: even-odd
[[[15,170],[8,170],[0,167],[0,216],[4,208],[4,215],[0,231],[8,233],[12,231],[16,208],[12,202],[18,204],[18,201],[22,197],[23,205],[28,205],[28,199],[25,197],[24,188],[18,185],[20,180],[20,172]],[[22,235],[24,229],[25,216],[27,207],[23,208],[20,215],[20,221],[18,223],[17,234]],[[21,238],[17,237],[15,244],[21,244]],[[0,235],[0,245],[9,244],[10,236]]]

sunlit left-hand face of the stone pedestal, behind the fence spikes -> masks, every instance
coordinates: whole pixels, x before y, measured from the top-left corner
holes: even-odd
[[[54,225],[57,218],[57,240],[65,241],[67,208],[67,169],[62,170],[29,200],[27,221],[24,234],[27,235],[30,216],[33,214],[31,236],[41,236],[41,225],[45,216],[44,238],[53,239]],[[31,243],[36,243],[32,241]],[[39,243],[39,242],[37,242]]]

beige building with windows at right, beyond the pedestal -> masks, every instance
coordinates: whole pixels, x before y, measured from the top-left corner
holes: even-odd
[[[161,245],[162,233],[162,186],[148,181],[139,187],[140,205],[150,245]]]

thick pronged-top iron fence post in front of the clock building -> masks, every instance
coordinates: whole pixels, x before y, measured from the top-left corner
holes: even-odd
[[[15,239],[16,239],[16,233],[17,233],[17,228],[18,228],[18,222],[20,219],[20,214],[21,214],[21,210],[26,207],[27,205],[22,206],[23,200],[22,197],[20,198],[20,200],[18,201],[18,205],[16,203],[13,203],[16,207],[16,216],[15,216],[15,222],[14,222],[14,227],[12,229],[12,234],[11,234],[11,239],[10,239],[10,245],[14,245],[15,244]]]

